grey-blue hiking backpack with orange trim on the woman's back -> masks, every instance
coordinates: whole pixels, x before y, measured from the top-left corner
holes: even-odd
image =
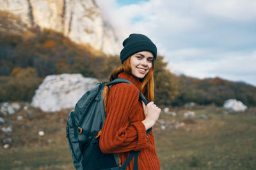
[[[105,154],[100,151],[99,137],[106,118],[106,99],[111,85],[116,83],[131,83],[123,78],[116,78],[111,82],[98,83],[97,87],[88,90],[76,103],[67,120],[68,146],[76,169],[125,169],[134,157],[133,169],[138,169],[139,152],[131,154],[119,167],[116,153]],[[132,83],[131,83],[132,84]],[[140,91],[138,91],[140,93]],[[140,93],[140,98],[147,105],[147,100]],[[148,129],[148,132],[151,128]]]

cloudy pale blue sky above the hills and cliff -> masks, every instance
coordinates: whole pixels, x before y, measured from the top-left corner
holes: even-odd
[[[96,0],[122,40],[147,35],[175,74],[256,86],[255,0]]]

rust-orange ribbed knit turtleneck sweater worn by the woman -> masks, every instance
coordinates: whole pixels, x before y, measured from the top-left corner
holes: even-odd
[[[100,150],[103,153],[118,153],[123,165],[131,150],[140,151],[138,169],[160,169],[152,131],[146,134],[145,119],[138,89],[141,82],[131,74],[120,73],[134,85],[118,83],[109,90],[107,117],[100,136]],[[132,159],[127,169],[133,168]]]

